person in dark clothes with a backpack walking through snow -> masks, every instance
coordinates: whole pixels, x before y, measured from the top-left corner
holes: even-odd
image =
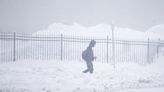
[[[87,49],[82,52],[82,58],[83,60],[86,61],[86,65],[87,65],[87,69],[84,70],[83,73],[87,73],[87,72],[93,73],[92,61],[96,59],[96,57],[93,54],[92,48],[95,46],[95,44],[96,44],[96,41],[91,40]]]

